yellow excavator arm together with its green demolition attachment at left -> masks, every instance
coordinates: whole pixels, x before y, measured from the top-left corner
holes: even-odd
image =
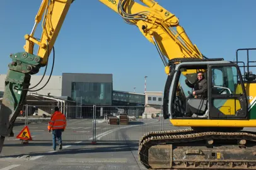
[[[31,75],[37,74],[41,67],[47,66],[49,54],[73,1],[43,0],[35,17],[35,25],[31,33],[25,35],[25,52],[10,55],[12,62],[8,65],[9,69],[4,82],[4,95],[0,109],[0,153],[5,137],[13,137],[14,135],[13,125],[25,104],[27,92],[35,88],[35,86],[29,88]],[[38,40],[34,36],[41,21],[42,35]],[[33,54],[35,45],[38,45],[37,54]]]

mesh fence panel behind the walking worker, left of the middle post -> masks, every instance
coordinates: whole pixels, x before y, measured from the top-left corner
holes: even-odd
[[[50,116],[54,113],[54,107],[49,105],[25,105],[23,115],[18,116],[17,120],[24,121],[25,125],[29,126],[30,132],[33,134],[43,134],[44,131],[47,132],[47,125]],[[67,120],[66,130],[62,135],[63,140],[92,140],[93,106],[59,106],[59,109],[66,115]],[[47,135],[47,139],[45,140],[50,140],[50,138],[51,136]]]

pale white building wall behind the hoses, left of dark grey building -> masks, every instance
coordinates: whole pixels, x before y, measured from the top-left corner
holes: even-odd
[[[0,91],[4,91],[5,79],[6,79],[6,74],[0,74]],[[41,79],[42,79],[41,75],[32,75],[30,80],[30,88],[35,86]],[[44,84],[47,82],[48,79],[49,79],[49,76],[44,76],[43,81],[40,82],[40,84],[37,87],[31,90],[42,88],[42,86],[44,86]],[[47,95],[48,93],[50,93],[50,95],[52,96],[61,96],[61,91],[62,91],[62,76],[51,76],[50,81],[47,83],[47,85],[43,89],[39,91],[31,92],[31,93],[38,93],[43,95]],[[28,93],[30,92],[28,91]]]

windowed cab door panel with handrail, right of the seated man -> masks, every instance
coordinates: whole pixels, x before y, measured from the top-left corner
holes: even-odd
[[[209,65],[208,71],[209,117],[247,119],[247,96],[237,65]]]

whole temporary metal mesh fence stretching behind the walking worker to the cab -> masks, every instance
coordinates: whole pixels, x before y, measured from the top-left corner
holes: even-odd
[[[165,130],[168,120],[163,120],[162,106],[65,106],[59,107],[67,118],[67,130],[72,130],[73,140],[117,141],[139,140],[145,133]],[[25,105],[25,125],[37,122],[49,122],[54,106]],[[127,115],[129,122],[122,120]],[[111,124],[111,117],[118,123]],[[65,135],[65,133],[64,133]],[[70,139],[70,138],[69,138]]]

